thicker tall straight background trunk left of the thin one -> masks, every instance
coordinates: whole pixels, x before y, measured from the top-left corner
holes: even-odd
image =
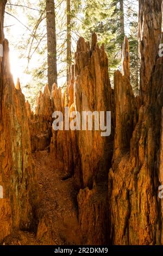
[[[48,50],[48,87],[51,92],[53,83],[57,84],[57,41],[54,0],[46,0],[46,21]]]

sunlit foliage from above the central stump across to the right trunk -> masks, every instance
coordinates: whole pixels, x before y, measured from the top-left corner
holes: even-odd
[[[134,1],[135,2],[135,1]],[[84,38],[90,40],[91,34],[98,35],[99,44],[105,46],[109,58],[109,72],[111,81],[114,71],[121,69],[122,44],[124,33],[130,42],[131,84],[134,92],[139,89],[139,42],[137,39],[137,10],[132,0],[123,1],[123,10],[120,0],[87,0],[82,7],[82,31]],[[124,20],[124,24],[122,24]]]

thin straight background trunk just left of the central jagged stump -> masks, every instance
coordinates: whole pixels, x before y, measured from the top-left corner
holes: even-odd
[[[67,0],[67,82],[71,63],[71,3]]]

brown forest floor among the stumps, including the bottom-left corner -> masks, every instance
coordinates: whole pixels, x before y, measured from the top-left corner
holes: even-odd
[[[64,179],[51,155],[44,151],[33,154],[39,187],[39,212],[43,218],[37,235],[17,230],[3,241],[4,245],[76,245],[80,244],[77,192],[73,178]],[[39,235],[41,234],[41,235]],[[42,234],[44,234],[42,236]]]

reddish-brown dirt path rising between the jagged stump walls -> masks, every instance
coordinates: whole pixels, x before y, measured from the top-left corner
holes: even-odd
[[[63,171],[46,150],[37,152],[33,158],[39,184],[40,208],[52,222],[53,243],[79,244],[73,179],[63,180]]]

